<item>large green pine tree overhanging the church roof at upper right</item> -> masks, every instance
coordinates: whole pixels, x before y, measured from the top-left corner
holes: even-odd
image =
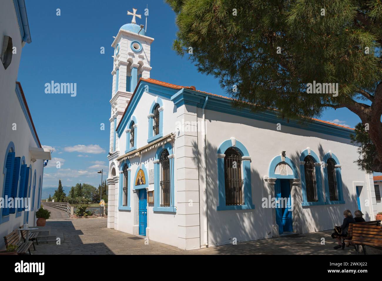
[[[348,108],[369,128],[367,165],[382,172],[380,0],[166,2],[179,30],[173,48],[219,78],[236,107],[304,123]],[[325,90],[310,93],[314,81]]]

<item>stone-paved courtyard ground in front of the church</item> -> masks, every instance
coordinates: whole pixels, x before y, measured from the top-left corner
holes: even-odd
[[[356,254],[351,247],[345,250],[334,250],[335,245],[330,237],[331,231],[321,231],[307,234],[296,234],[278,238],[261,239],[240,242],[237,245],[222,245],[196,250],[181,250],[177,247],[150,241],[144,244],[144,239],[128,233],[107,228],[107,218],[83,218],[47,220],[47,226],[64,234],[61,245],[36,245],[32,254],[40,255],[160,255],[160,254],[190,254],[190,255],[228,255],[228,254],[325,254],[350,255]],[[321,245],[321,237],[325,237],[325,245]]]

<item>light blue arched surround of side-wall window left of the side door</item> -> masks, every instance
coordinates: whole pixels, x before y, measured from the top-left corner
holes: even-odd
[[[241,168],[243,171],[243,193],[244,193],[244,205],[225,205],[225,179],[224,179],[224,153],[225,151],[233,147],[241,153],[243,159],[241,160]],[[218,173],[218,191],[219,191],[219,206],[216,210],[249,210],[254,209],[255,205],[252,203],[252,187],[251,187],[251,159],[249,157],[248,150],[246,147],[234,137],[225,140],[220,144],[218,150],[217,159],[217,173]]]

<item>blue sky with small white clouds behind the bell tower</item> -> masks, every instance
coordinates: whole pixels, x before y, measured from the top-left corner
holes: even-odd
[[[112,3],[112,5],[110,5]],[[175,39],[175,13],[161,0],[113,2],[101,0],[26,0],[32,43],[23,48],[18,81],[21,82],[42,145],[53,147],[52,157],[61,161],[57,169],[50,161],[44,169],[43,187],[86,182],[98,186],[107,152],[112,95],[113,36],[131,22],[126,15],[138,9],[151,45],[151,78],[223,94],[218,80],[197,72],[186,57],[172,50]],[[61,15],[56,15],[60,8]],[[105,54],[100,48],[105,47]],[[77,95],[45,94],[45,83],[77,83]],[[328,110],[322,120],[355,126],[358,116],[347,109]],[[105,123],[105,130],[100,130]],[[54,163],[53,163],[54,162]],[[53,165],[54,164],[54,165]]]

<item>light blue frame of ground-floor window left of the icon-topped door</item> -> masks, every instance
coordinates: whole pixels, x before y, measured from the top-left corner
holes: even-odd
[[[125,170],[125,173],[124,173]],[[127,186],[126,186],[127,184]],[[127,189],[124,187],[127,187]],[[128,159],[120,164],[119,194],[118,194],[118,210],[130,211],[130,194],[131,194],[131,164]],[[123,202],[123,195],[127,194],[127,202]]]

